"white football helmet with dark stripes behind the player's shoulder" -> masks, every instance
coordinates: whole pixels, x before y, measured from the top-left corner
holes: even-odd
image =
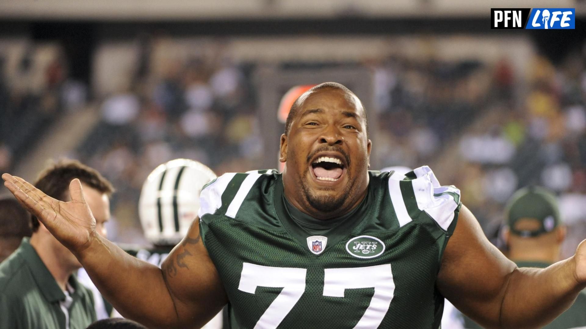
[[[194,160],[175,159],[155,168],[142,185],[138,214],[152,244],[176,245],[199,211],[199,193],[216,174]]]

